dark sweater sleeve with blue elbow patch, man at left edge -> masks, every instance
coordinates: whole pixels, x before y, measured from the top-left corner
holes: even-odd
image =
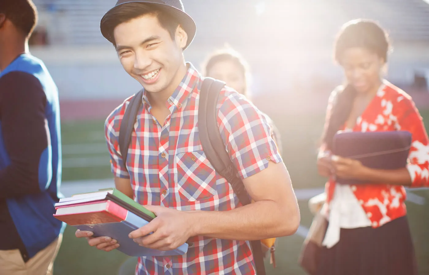
[[[9,165],[0,170],[0,199],[41,192],[52,179],[46,95],[31,74],[0,78],[1,132]]]

